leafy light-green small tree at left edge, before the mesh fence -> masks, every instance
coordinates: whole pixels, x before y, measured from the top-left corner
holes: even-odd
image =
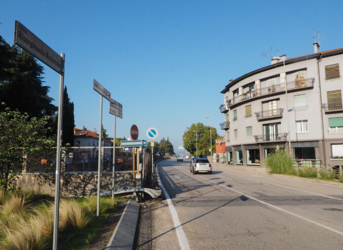
[[[53,140],[46,139],[48,120],[48,116],[30,117],[8,107],[0,112],[0,189],[15,189],[15,177],[21,172],[25,154],[55,145]]]

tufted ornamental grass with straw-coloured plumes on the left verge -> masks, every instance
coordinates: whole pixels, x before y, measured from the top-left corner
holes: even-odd
[[[102,197],[101,214],[114,211],[121,200]],[[66,243],[65,249],[84,249],[96,237],[105,219],[95,217],[96,210],[97,197],[60,200],[60,243]],[[0,249],[50,249],[53,223],[53,197],[35,191],[0,192]]]

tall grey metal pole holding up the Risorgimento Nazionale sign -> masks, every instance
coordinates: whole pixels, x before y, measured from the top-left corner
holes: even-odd
[[[60,212],[60,177],[61,177],[61,147],[62,147],[62,122],[63,122],[63,88],[64,88],[64,65],[65,54],[61,54],[62,65],[60,73],[60,90],[58,103],[58,122],[57,122],[57,148],[56,148],[56,176],[55,176],[55,212],[54,212],[54,235],[53,235],[53,250],[58,249],[58,222]]]

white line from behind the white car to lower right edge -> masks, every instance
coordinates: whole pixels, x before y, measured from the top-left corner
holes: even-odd
[[[185,169],[183,169],[183,170],[186,171]],[[187,171],[186,171],[186,172],[187,172]],[[202,179],[205,179],[205,180],[207,180],[207,181],[213,182],[213,183],[215,183],[215,184],[217,184],[217,185],[223,186],[223,187],[225,187],[225,188],[227,188],[227,189],[229,189],[229,190],[232,190],[232,191],[234,191],[234,192],[236,192],[236,193],[238,193],[238,194],[240,194],[240,195],[244,195],[245,197],[248,197],[248,198],[251,199],[251,200],[257,201],[257,202],[262,203],[262,204],[264,204],[264,205],[267,205],[267,206],[269,206],[269,207],[271,207],[271,208],[274,208],[274,209],[276,209],[276,210],[282,211],[282,212],[284,212],[284,213],[286,213],[286,214],[291,214],[291,215],[293,215],[293,216],[295,216],[295,217],[301,218],[301,219],[303,219],[303,220],[305,220],[305,221],[308,221],[308,222],[310,222],[310,223],[312,223],[312,224],[315,224],[315,225],[317,225],[317,226],[320,226],[320,227],[325,228],[325,229],[327,229],[327,230],[329,230],[329,231],[331,231],[331,232],[334,232],[334,233],[337,233],[337,234],[343,236],[343,232],[341,232],[341,231],[339,231],[339,230],[337,230],[337,229],[335,229],[335,228],[326,226],[326,225],[321,224],[321,223],[319,223],[319,222],[316,222],[316,221],[314,221],[314,220],[308,219],[308,218],[306,218],[306,217],[304,217],[304,216],[302,216],[302,215],[295,214],[295,213],[293,213],[293,212],[290,212],[290,211],[287,211],[287,210],[285,210],[285,209],[282,209],[282,208],[279,208],[279,207],[277,207],[277,206],[274,206],[274,205],[272,205],[272,204],[270,204],[270,203],[261,201],[261,200],[255,198],[255,197],[252,197],[252,196],[250,196],[250,195],[246,195],[246,194],[244,194],[244,193],[242,193],[242,192],[240,192],[240,191],[238,191],[238,190],[236,190],[236,189],[234,189],[234,188],[232,188],[232,187],[228,187],[228,186],[226,186],[226,185],[219,184],[218,182],[215,182],[215,181],[213,181],[213,180],[211,180],[211,179],[207,179],[207,178],[202,177],[202,176],[199,176],[199,177],[202,178]]]

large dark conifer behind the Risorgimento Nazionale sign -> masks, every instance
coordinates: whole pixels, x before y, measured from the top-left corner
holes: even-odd
[[[23,49],[12,47],[0,36],[0,100],[11,110],[41,118],[53,115],[57,107],[43,86],[43,67]],[[0,106],[0,111],[5,107]]]

